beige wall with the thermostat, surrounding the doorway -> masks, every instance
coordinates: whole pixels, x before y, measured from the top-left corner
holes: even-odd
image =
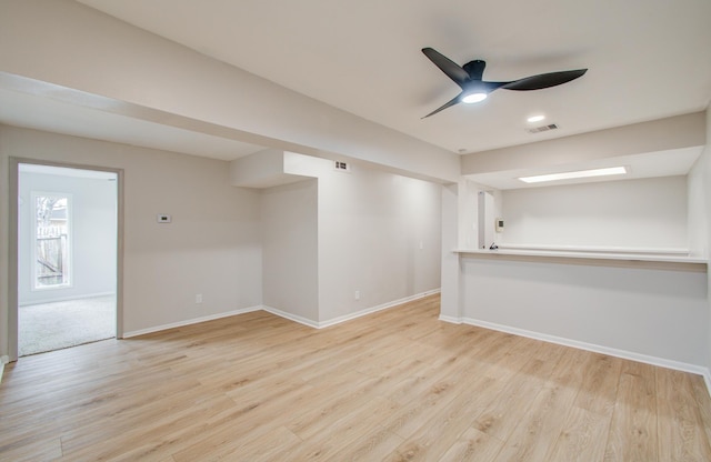
[[[259,193],[231,187],[227,162],[0,125],[3,198],[11,155],[123,169],[124,332],[261,304]],[[7,223],[6,201],[0,207]],[[172,223],[157,223],[158,213],[171,214]],[[7,274],[7,227],[0,238]],[[2,303],[3,352],[7,310]]]

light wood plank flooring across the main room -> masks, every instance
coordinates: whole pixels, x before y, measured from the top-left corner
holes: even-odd
[[[23,358],[1,461],[711,461],[701,376],[438,321],[253,312]]]

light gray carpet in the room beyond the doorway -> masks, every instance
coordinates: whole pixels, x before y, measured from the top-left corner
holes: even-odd
[[[116,298],[98,297],[20,307],[20,356],[116,337]]]

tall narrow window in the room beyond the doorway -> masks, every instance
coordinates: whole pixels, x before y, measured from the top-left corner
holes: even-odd
[[[32,205],[32,288],[41,290],[70,287],[71,195],[34,191]]]

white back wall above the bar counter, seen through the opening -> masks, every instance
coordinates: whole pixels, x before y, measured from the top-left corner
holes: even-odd
[[[507,244],[688,247],[687,178],[505,190]]]

